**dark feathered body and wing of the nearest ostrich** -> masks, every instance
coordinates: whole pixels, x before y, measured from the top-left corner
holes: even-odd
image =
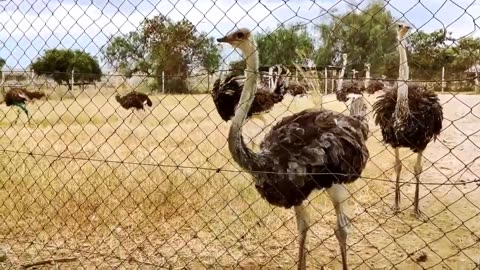
[[[367,124],[337,112],[285,117],[265,137],[254,167],[275,173],[257,173],[256,188],[270,203],[288,208],[314,189],[354,181],[369,156],[367,135]]]

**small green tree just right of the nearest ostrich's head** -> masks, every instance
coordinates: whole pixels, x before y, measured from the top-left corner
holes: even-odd
[[[290,66],[302,62],[301,55],[311,55],[314,50],[313,39],[306,27],[298,24],[280,25],[275,31],[257,34],[255,41],[262,66]]]

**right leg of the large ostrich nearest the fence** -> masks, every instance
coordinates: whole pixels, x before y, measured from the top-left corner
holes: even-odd
[[[335,230],[335,236],[340,244],[340,252],[342,255],[342,269],[348,270],[347,265],[347,227],[350,225],[348,217],[343,211],[343,205],[348,198],[348,192],[343,185],[334,184],[331,188],[327,189],[333,206],[335,207],[335,213],[337,214],[337,228]]]

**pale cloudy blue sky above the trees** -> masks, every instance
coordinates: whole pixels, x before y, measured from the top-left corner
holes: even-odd
[[[0,57],[13,69],[26,69],[45,49],[82,49],[101,56],[111,35],[134,31],[145,17],[186,18],[210,36],[235,27],[255,32],[279,23],[328,22],[334,10],[364,8],[371,0],[4,0],[0,1]],[[414,29],[446,28],[453,36],[480,37],[479,0],[384,0],[392,15]],[[222,55],[232,56],[224,48]],[[103,65],[103,62],[102,62]],[[107,69],[108,67],[104,67]]]

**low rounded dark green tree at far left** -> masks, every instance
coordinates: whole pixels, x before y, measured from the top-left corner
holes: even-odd
[[[74,81],[82,84],[99,81],[102,76],[96,57],[80,50],[45,50],[44,55],[33,61],[31,67],[37,75],[51,77],[58,84],[67,83],[69,90],[72,89],[72,70],[74,70]]]

